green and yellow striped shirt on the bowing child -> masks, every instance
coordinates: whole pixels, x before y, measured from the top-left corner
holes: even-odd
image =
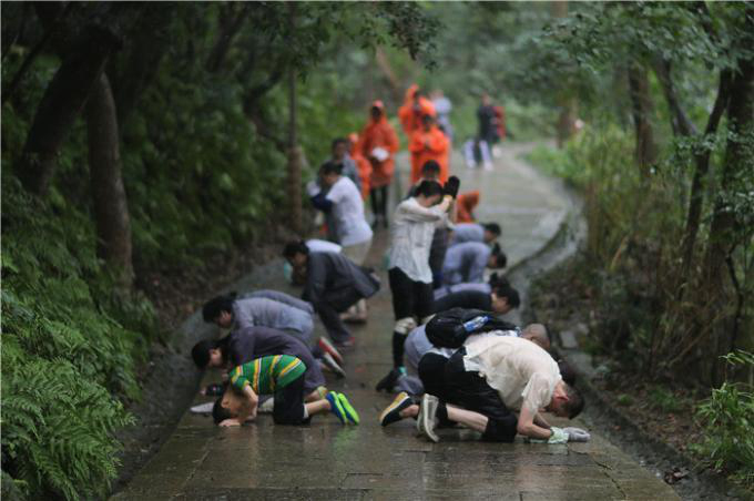
[[[241,365],[228,372],[231,385],[243,390],[251,385],[257,395],[271,395],[306,372],[306,365],[291,355],[269,355]]]

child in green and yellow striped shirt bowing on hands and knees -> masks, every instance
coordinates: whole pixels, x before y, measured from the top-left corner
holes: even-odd
[[[215,402],[212,416],[222,427],[242,426],[256,418],[261,395],[274,395],[276,425],[306,425],[312,416],[333,412],[343,425],[358,425],[359,417],[345,395],[328,391],[304,403],[306,365],[288,355],[266,356],[228,371],[228,388]]]

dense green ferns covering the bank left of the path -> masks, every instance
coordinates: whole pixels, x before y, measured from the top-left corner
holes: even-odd
[[[2,469],[29,499],[101,497],[154,311],[113,296],[86,214],[2,185]]]

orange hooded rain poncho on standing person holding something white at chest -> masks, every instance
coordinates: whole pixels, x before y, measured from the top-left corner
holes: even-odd
[[[393,155],[398,151],[400,143],[398,142],[398,134],[395,129],[387,121],[385,115],[385,105],[381,101],[371,103],[371,108],[381,110],[379,120],[369,117],[359,136],[358,151],[361,156],[367,159],[371,164],[371,176],[369,177],[369,185],[373,188],[387,186],[393,181],[393,172],[395,171],[395,163]],[[380,147],[389,153],[385,160],[377,160],[373,156],[375,149]]]

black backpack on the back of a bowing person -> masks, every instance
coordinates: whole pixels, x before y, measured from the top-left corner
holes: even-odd
[[[440,348],[460,348],[472,334],[516,330],[517,327],[481,309],[450,308],[427,323],[427,339]]]

